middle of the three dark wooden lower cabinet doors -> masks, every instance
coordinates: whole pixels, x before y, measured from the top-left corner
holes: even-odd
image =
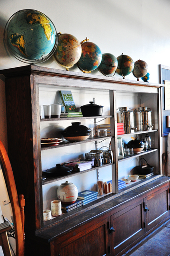
[[[125,252],[143,233],[143,199],[118,211],[110,217],[114,232],[111,234],[111,253],[117,255]],[[124,251],[123,251],[124,250]]]

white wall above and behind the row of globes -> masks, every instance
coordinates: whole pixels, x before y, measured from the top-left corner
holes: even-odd
[[[170,66],[169,0],[1,0],[0,69],[25,65],[12,57],[3,43],[8,19],[21,9],[45,13],[57,32],[70,33],[79,41],[88,37],[102,54],[108,52],[117,57],[124,53],[134,61],[146,61],[149,82],[159,82],[158,64]],[[63,69],[52,57],[39,65]],[[70,71],[81,73],[76,66]],[[98,70],[93,73],[101,75]],[[126,79],[136,80],[133,74]],[[4,93],[4,78],[0,76],[0,139],[7,148]],[[165,150],[166,138],[163,138],[162,152]]]

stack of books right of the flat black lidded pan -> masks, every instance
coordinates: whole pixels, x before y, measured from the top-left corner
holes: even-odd
[[[92,167],[92,161],[84,160],[84,159],[77,159],[70,163],[64,163],[65,166],[73,166],[74,172],[82,172],[84,170],[89,170]]]

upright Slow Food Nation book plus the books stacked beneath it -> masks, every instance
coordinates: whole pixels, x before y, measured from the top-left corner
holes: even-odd
[[[61,113],[61,118],[82,117],[82,112],[77,111],[76,105],[73,100],[72,91],[60,91],[65,113]]]

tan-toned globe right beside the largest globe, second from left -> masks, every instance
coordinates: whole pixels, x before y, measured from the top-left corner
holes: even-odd
[[[59,34],[54,52],[55,60],[66,69],[73,67],[81,57],[81,43],[70,34]]]

